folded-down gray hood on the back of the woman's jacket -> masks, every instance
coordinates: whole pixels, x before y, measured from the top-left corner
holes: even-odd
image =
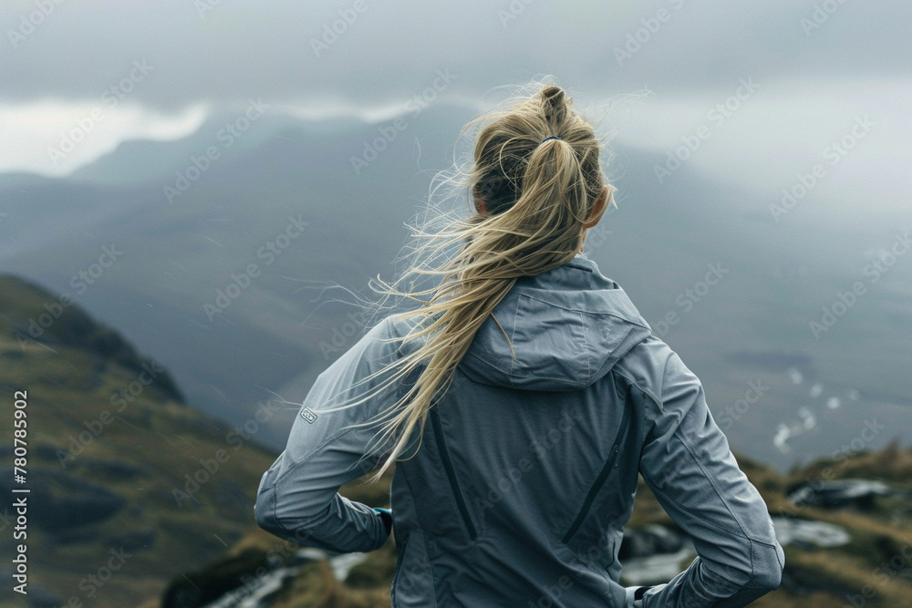
[[[460,369],[488,385],[576,390],[651,334],[624,290],[577,255],[517,281],[479,328]]]

